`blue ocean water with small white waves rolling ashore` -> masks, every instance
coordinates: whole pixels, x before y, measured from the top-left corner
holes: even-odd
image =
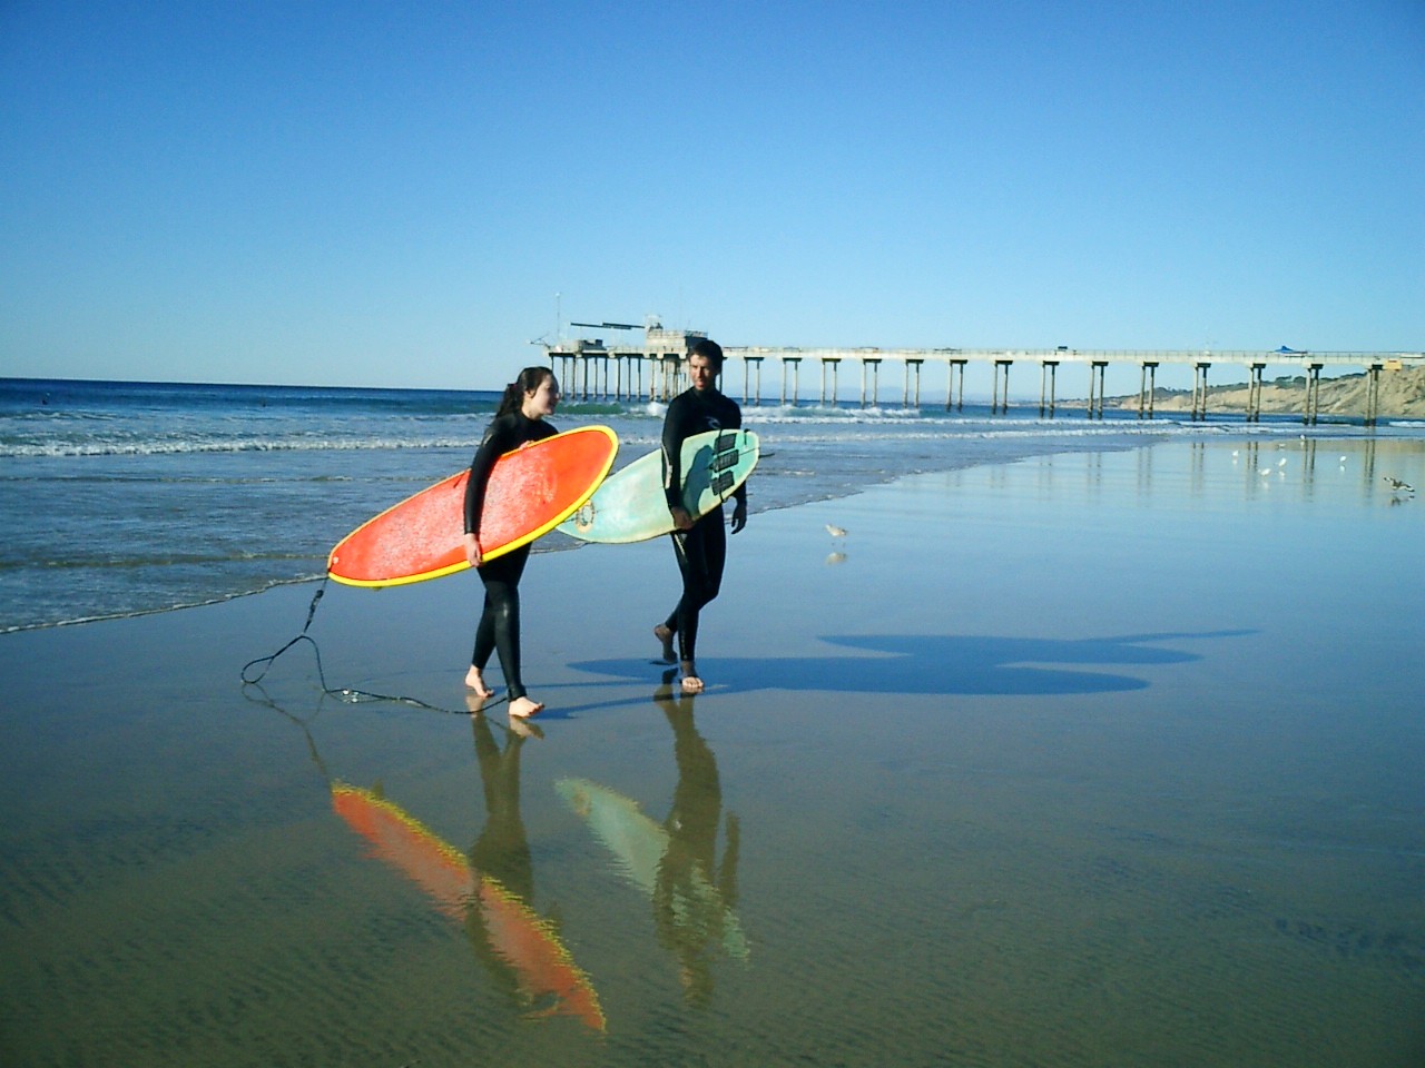
[[[735,389],[732,394],[737,396]],[[137,615],[319,577],[370,515],[470,461],[497,394],[0,379],[0,632]],[[561,404],[554,424],[606,423],[618,464],[657,444],[663,406]],[[755,511],[831,500],[906,474],[1019,457],[1241,434],[1295,440],[1294,420],[1248,427],[1033,406],[992,416],[745,404],[762,437]],[[1311,439],[1359,427],[1312,427]],[[1382,427],[1372,439],[1425,427]],[[554,534],[540,551],[576,548]]]

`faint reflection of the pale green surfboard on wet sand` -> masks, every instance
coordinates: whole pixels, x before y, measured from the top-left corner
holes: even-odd
[[[616,857],[628,880],[653,897],[658,884],[658,864],[668,852],[668,832],[648,819],[638,802],[587,779],[560,779],[554,789],[581,816]],[[697,904],[711,906],[721,916],[722,950],[747,960],[747,936],[742,924],[722,901],[722,894],[701,874],[693,876]],[[698,910],[701,911],[701,909]]]

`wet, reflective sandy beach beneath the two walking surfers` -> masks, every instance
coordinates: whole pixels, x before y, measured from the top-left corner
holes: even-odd
[[[473,575],[4,635],[4,1061],[1419,1064],[1425,451],[1328,447],[755,513],[695,699],[665,543],[537,554],[529,736]]]

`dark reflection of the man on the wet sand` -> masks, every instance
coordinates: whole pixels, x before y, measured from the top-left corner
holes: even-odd
[[[688,1004],[707,1005],[712,998],[711,960],[718,946],[745,954],[732,909],[737,906],[740,826],[727,817],[727,850],[717,864],[717,827],[722,787],[717,759],[693,723],[693,699],[673,696],[675,671],[664,672],[654,702],[673,728],[673,755],[678,785],[664,827],[668,847],[658,862],[653,891],[653,918],[658,941],[678,961]]]

